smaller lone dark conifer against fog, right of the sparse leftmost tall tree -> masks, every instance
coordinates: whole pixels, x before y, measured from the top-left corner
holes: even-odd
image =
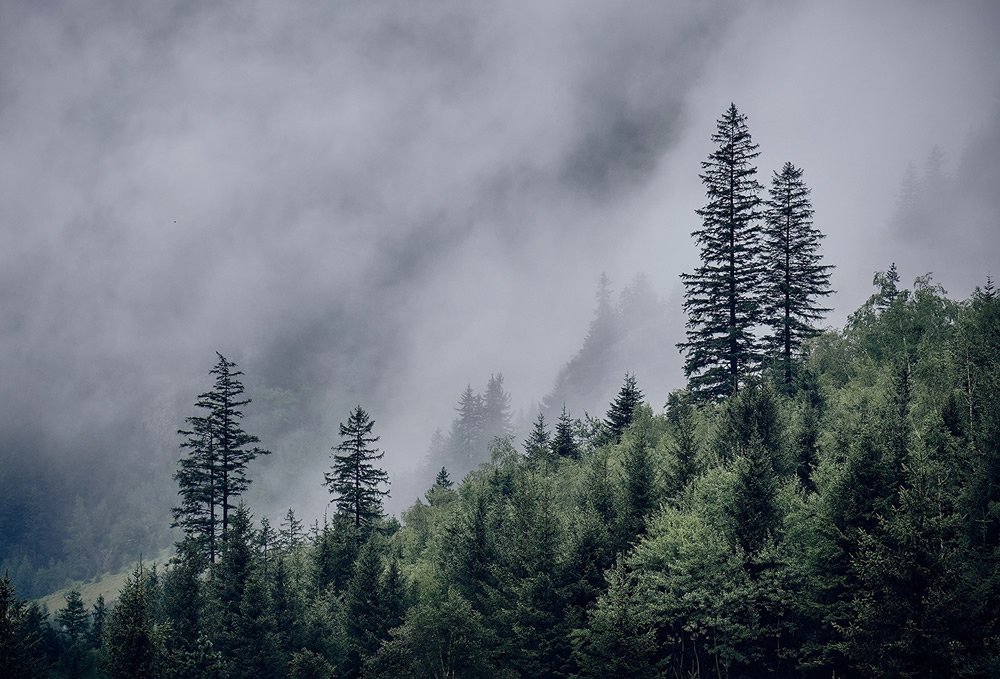
[[[337,510],[350,517],[355,529],[369,527],[382,516],[382,498],[389,495],[382,485],[389,475],[373,462],[385,453],[372,447],[379,439],[372,435],[375,420],[359,405],[340,425],[341,442],[333,447],[333,465],[326,472],[326,485],[336,495]]]

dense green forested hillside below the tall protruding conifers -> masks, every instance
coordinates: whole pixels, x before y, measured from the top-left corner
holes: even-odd
[[[571,453],[497,439],[400,521],[241,505],[214,565],[184,542],[58,632],[4,580],[5,676],[993,675],[1000,298],[875,284],[790,383],[626,380]]]

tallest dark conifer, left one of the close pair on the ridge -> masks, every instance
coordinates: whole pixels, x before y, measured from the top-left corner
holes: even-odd
[[[739,391],[760,359],[753,332],[760,316],[761,237],[754,158],[759,155],[746,116],[735,104],[718,120],[712,141],[718,148],[702,162],[708,203],[692,232],[701,246],[701,265],[683,273],[687,339],[684,374],[689,389],[705,399]]]

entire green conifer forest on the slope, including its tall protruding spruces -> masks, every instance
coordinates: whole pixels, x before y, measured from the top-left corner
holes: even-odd
[[[822,329],[833,264],[802,169],[765,189],[735,105],[712,142],[686,336],[663,347],[687,386],[665,404],[642,390],[659,376],[627,372],[603,414],[553,397],[518,440],[494,375],[463,392],[399,517],[358,405],[316,479],[331,511],[275,527],[242,501],[269,453],[218,354],[178,423],[173,556],[140,560],[117,601],[73,587],[51,615],[5,574],[0,676],[1000,674],[991,279],[955,300],[893,264]],[[554,394],[584,388],[621,322],[601,290]]]

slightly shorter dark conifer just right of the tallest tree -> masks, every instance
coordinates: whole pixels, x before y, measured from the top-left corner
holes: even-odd
[[[804,340],[815,337],[815,323],[830,309],[818,299],[830,295],[832,266],[822,264],[824,238],[813,227],[809,187],[802,169],[785,163],[771,179],[764,226],[764,324],[767,353],[781,366],[785,384],[792,382],[792,358]]]

